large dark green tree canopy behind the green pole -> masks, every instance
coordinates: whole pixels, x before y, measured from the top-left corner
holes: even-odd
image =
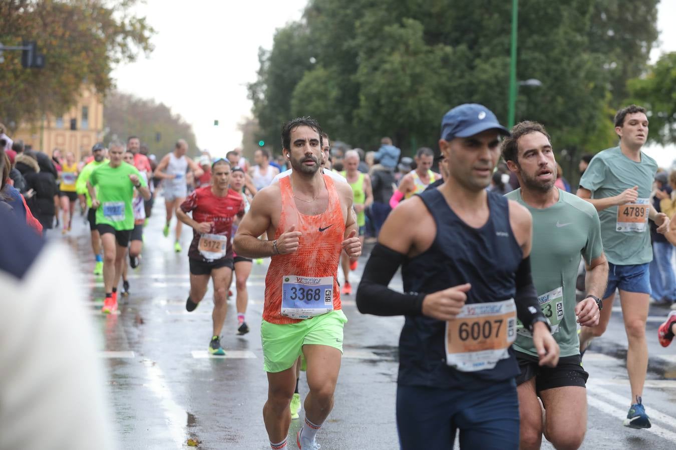
[[[572,167],[616,137],[627,80],[646,69],[658,0],[521,0],[516,119],[544,123]],[[333,139],[365,149],[391,136],[404,152],[436,147],[445,111],[482,103],[506,122],[511,2],[310,0],[261,49],[249,85],[260,137],[312,115]]]

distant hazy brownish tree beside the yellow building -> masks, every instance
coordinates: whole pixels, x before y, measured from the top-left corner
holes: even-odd
[[[103,123],[107,128],[105,142],[138,136],[150,153],[163,157],[174,149],[177,140],[185,139],[189,154],[199,154],[192,125],[163,103],[114,91],[105,99]]]

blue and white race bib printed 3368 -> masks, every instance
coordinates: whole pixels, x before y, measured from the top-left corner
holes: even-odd
[[[333,277],[282,277],[283,316],[310,318],[333,311]]]

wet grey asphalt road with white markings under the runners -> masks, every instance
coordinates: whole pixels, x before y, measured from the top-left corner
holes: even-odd
[[[51,238],[70,244],[90,295],[87,308],[100,333],[111,417],[121,449],[269,449],[262,420],[267,381],[262,365],[260,316],[268,260],[254,264],[249,278],[247,323],[251,333],[236,334],[235,299],[228,302],[222,333],[226,358],[211,357],[211,288],[193,313],[185,311],[189,289],[187,247],[191,230],[183,228],[184,251],[173,251],[173,238],[162,235],[164,204],[158,198],[145,230],[141,266],[129,271],[130,296],[120,297],[120,313],[103,316],[103,279],[91,275],[89,227],[76,217],[73,230]],[[175,221],[175,219],[174,219]],[[174,222],[172,222],[173,225]],[[173,233],[173,227],[172,227]],[[363,269],[362,257],[353,283]],[[341,275],[340,275],[341,276]],[[391,286],[401,289],[397,275]],[[121,285],[120,285],[121,287]],[[233,292],[235,286],[233,283]],[[676,345],[662,348],[656,330],[668,310],[652,306],[648,318],[650,364],[644,404],[649,430],[631,430],[621,420],[629,407],[625,370],[627,339],[619,302],[606,334],[585,354],[589,372],[589,423],[583,449],[673,449],[676,445]],[[395,449],[397,341],[403,318],[364,316],[352,298],[343,299],[345,354],[335,407],[318,434],[322,449]],[[301,397],[307,393],[301,372]],[[411,412],[415,414],[415,412]],[[575,414],[575,411],[571,411]],[[293,420],[289,449],[302,424]],[[456,448],[457,448],[456,442]],[[424,449],[424,445],[421,445]],[[552,449],[544,443],[544,449]]]

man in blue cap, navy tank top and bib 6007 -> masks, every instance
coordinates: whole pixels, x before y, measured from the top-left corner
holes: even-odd
[[[392,211],[362,275],[360,312],[406,316],[397,381],[404,450],[450,449],[458,428],[462,449],[518,448],[517,316],[539,364],[558,362],[531,279],[531,215],[485,190],[500,134],[508,131],[482,105],[443,116],[450,176]],[[402,264],[406,293],[387,287]]]

